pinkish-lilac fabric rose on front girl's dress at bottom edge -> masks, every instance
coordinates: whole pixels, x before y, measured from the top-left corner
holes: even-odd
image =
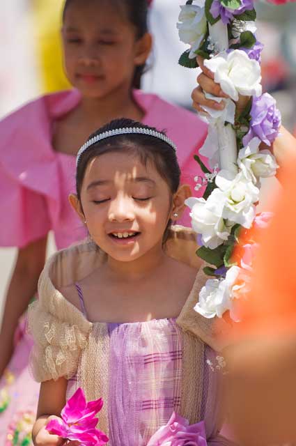
[[[147,446],[207,446],[205,424],[189,425],[188,420],[175,412],[148,441]]]

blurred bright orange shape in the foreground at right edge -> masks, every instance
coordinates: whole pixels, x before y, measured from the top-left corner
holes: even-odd
[[[251,295],[235,324],[238,338],[296,333],[296,159],[281,168],[281,184],[272,222],[259,236]]]

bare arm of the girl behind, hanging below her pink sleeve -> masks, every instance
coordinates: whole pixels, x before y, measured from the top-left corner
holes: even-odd
[[[38,278],[45,264],[46,245],[47,236],[18,251],[0,331],[0,376],[13,354],[13,339],[20,316],[37,291]]]

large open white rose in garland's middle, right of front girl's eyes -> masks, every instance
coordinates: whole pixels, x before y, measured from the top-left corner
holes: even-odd
[[[249,229],[256,216],[254,203],[259,199],[258,187],[244,172],[240,171],[235,175],[226,170],[219,171],[216,185],[217,188],[207,200],[206,208],[217,217]]]

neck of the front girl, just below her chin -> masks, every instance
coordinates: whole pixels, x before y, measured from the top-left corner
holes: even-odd
[[[162,247],[158,245],[134,261],[117,261],[108,258],[107,268],[111,276],[116,276],[117,279],[124,279],[125,282],[133,282],[143,277],[153,275],[155,270],[158,270],[160,266],[164,265],[166,254]]]

